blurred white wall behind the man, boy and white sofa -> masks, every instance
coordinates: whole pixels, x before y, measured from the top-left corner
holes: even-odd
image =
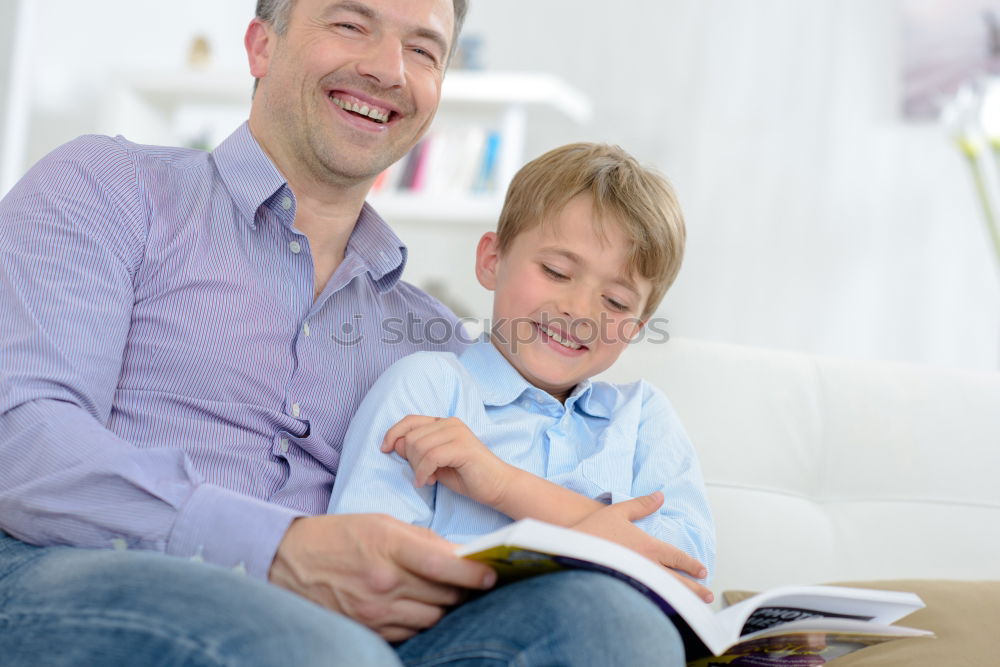
[[[244,66],[253,4],[34,0],[29,157],[95,130],[111,72],[178,67],[195,33]],[[1000,275],[964,165],[941,128],[896,111],[896,2],[472,5],[489,67],[555,72],[595,102],[586,128],[536,117],[532,155],[615,142],[676,184],[690,242],[661,309],[674,333],[997,368]],[[399,231],[414,282],[463,286],[488,314],[472,274],[482,229]]]

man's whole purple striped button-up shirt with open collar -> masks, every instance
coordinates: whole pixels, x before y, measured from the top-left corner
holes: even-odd
[[[246,124],[212,153],[81,137],[0,201],[0,528],[267,576],[378,375],[461,347],[367,204],[314,300],[295,207]]]

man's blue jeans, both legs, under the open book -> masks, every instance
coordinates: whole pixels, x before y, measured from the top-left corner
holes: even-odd
[[[397,657],[398,654],[398,657]],[[156,553],[33,547],[0,532],[0,664],[683,665],[673,626],[610,577],[503,587],[393,652],[276,586]]]

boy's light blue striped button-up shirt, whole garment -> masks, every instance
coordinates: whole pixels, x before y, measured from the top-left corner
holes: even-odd
[[[504,461],[603,502],[662,490],[663,507],[637,525],[712,571],[715,529],[697,457],[670,402],[649,383],[588,380],[564,405],[488,341],[461,356],[419,352],[393,364],[351,422],[330,511],[384,512],[466,542],[511,520],[443,485],[413,487],[406,460],[379,449],[410,414],[458,417]]]

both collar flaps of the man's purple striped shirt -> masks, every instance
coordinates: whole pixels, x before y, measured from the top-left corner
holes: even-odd
[[[283,192],[295,199],[285,177],[250,132],[249,123],[244,122],[219,144],[212,151],[212,160],[237,210],[251,227],[256,224],[257,210],[269,200]],[[346,254],[361,261],[375,289],[383,293],[395,286],[406,267],[406,246],[368,202],[358,215]]]

